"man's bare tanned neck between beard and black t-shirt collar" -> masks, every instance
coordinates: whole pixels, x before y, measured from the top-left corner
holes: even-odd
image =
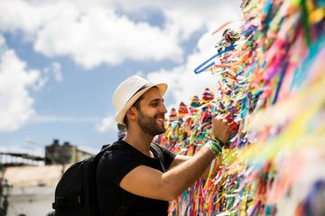
[[[143,130],[128,129],[123,140],[141,151],[144,155],[151,156],[150,144],[153,141],[153,136],[144,133]]]

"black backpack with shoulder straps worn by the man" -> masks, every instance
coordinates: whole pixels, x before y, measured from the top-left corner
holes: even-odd
[[[104,145],[95,156],[88,157],[70,166],[62,175],[55,189],[54,202],[51,216],[98,216],[99,207],[97,200],[96,169],[98,161],[103,154],[114,144]],[[163,151],[156,144],[151,149],[162,158],[161,163],[165,172]],[[125,215],[126,210],[135,195],[125,193],[122,196],[122,203],[116,211],[116,216]]]

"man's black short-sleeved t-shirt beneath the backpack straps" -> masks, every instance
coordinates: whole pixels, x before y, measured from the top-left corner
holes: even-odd
[[[165,169],[172,164],[175,155],[160,147],[163,151]],[[97,170],[98,204],[102,216],[115,215],[121,206],[122,195],[125,193],[119,184],[123,177],[136,166],[150,166],[163,172],[160,158],[153,151],[154,158],[147,157],[123,140],[113,144],[100,158]],[[144,183],[145,184],[145,183]],[[127,210],[127,215],[167,215],[168,202],[136,196]]]

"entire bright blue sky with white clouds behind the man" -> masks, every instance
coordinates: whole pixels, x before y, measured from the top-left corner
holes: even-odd
[[[193,70],[240,3],[2,0],[0,150],[42,154],[60,139],[96,152],[116,139],[111,98],[128,76],[167,82],[168,108],[214,88]]]

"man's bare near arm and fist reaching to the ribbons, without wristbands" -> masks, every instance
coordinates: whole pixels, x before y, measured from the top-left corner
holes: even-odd
[[[226,120],[214,119],[213,135],[226,142],[229,139],[229,127]],[[214,158],[215,155],[209,148],[201,148],[189,159],[179,157],[173,161],[173,167],[165,173],[149,166],[137,166],[125,175],[120,186],[140,196],[171,201],[194,184]],[[179,165],[175,166],[177,164]]]

